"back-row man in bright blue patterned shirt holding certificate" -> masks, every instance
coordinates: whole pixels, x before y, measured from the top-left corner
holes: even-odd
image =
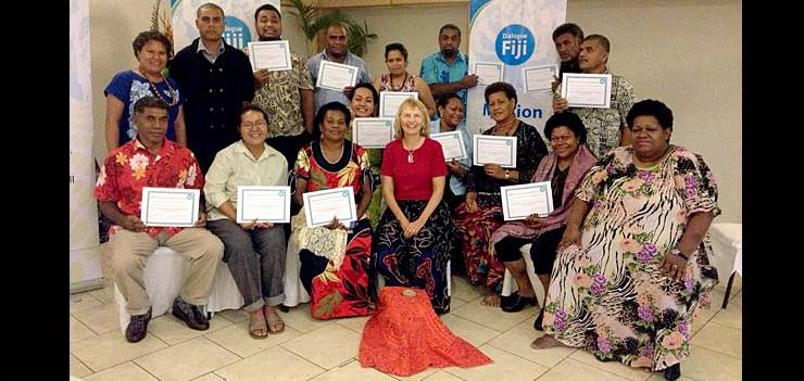
[[[438,31],[440,51],[434,52],[422,60],[418,76],[430,87],[432,98],[454,92],[461,97],[466,116],[466,89],[477,86],[477,75],[468,74],[469,61],[466,54],[457,50],[461,47],[461,29],[453,24],[447,24]],[[436,119],[434,115],[432,119]]]

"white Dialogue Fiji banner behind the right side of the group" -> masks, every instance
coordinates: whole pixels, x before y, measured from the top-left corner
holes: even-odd
[[[472,0],[469,3],[469,73],[476,63],[503,64],[503,81],[516,89],[517,118],[543,137],[553,114],[551,91],[525,93],[523,68],[558,64],[553,30],[566,20],[566,0]],[[466,113],[469,134],[492,127],[483,98],[486,86],[469,89]],[[547,140],[545,140],[547,141]]]

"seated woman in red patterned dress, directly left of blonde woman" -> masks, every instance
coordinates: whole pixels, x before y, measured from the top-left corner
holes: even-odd
[[[337,219],[325,227],[307,228],[304,212],[297,214],[288,241],[288,261],[301,262],[299,271],[287,272],[286,285],[301,281],[312,296],[314,318],[368,315],[368,259],[372,227],[365,215],[372,201],[366,150],[344,138],[351,120],[349,109],[330,102],[318,109],[313,141],[299,150],[293,198],[304,205],[304,192],[349,187],[354,192],[359,220],[347,227]]]

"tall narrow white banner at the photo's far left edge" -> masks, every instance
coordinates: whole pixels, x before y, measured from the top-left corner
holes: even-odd
[[[103,285],[92,154],[89,1],[70,0],[70,292]]]

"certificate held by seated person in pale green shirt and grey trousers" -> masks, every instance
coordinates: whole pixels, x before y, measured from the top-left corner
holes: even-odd
[[[237,187],[237,223],[290,223],[290,187]]]

